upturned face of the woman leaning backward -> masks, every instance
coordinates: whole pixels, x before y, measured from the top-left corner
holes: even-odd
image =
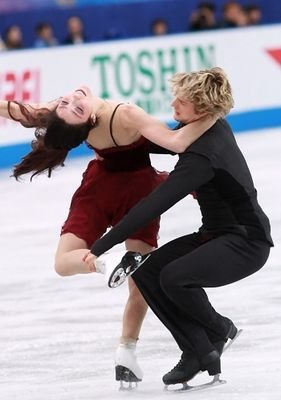
[[[92,110],[93,95],[89,88],[80,86],[59,99],[56,113],[68,124],[77,125],[88,121]]]

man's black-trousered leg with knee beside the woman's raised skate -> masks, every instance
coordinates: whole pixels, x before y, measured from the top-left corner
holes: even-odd
[[[179,367],[182,367],[184,360],[185,366],[180,372],[181,376],[182,371],[185,373],[185,379],[191,379],[200,369],[208,370],[211,375],[220,373],[220,357],[214,342],[216,338],[220,339],[222,334],[219,332],[217,337],[212,337],[204,326],[190,317],[184,309],[186,305],[179,307],[172,301],[163,290],[161,277],[164,270],[170,271],[172,274],[173,268],[169,268],[169,265],[193,254],[193,252],[200,251],[201,245],[200,236],[196,234],[178,238],[153,252],[150,258],[133,274],[133,279],[147,303],[170,330],[184,353]],[[183,267],[183,270],[185,268],[187,265]],[[168,282],[168,274],[166,277]],[[220,317],[223,319],[222,316]],[[187,369],[186,366],[188,366]]]

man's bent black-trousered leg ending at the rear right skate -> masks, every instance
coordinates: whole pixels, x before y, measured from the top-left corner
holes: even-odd
[[[229,321],[214,310],[203,287],[224,286],[251,275],[264,265],[268,253],[269,246],[261,242],[233,234],[220,236],[167,264],[160,286],[186,317],[225,337]]]

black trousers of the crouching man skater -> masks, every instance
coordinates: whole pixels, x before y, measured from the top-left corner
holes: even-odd
[[[194,233],[155,250],[132,278],[180,349],[200,360],[229,329],[229,320],[212,307],[203,287],[253,274],[265,264],[269,250],[265,242],[236,234]]]

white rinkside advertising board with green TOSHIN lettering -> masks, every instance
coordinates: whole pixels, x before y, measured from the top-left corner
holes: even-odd
[[[0,98],[38,103],[85,84],[97,96],[137,103],[170,123],[169,78],[178,71],[220,66],[233,87],[229,118],[234,131],[278,126],[280,37],[281,25],[272,25],[2,52]],[[13,146],[31,138],[32,130],[0,119],[0,166],[10,162]]]

